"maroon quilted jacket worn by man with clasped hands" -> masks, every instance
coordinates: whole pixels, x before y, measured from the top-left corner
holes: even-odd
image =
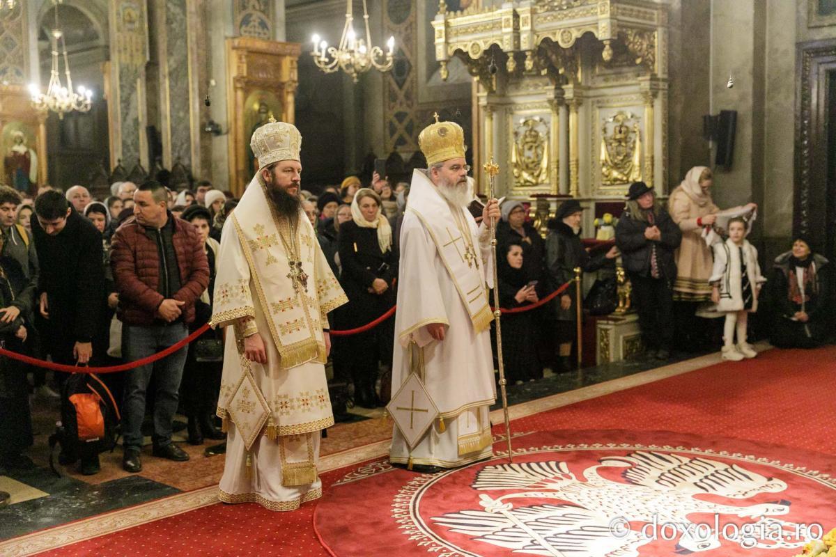
[[[173,227],[171,246],[161,240],[162,230],[140,225],[133,217],[113,235],[110,266],[119,291],[119,318],[126,325],[162,323],[157,308],[166,298],[186,302],[178,321],[189,324],[195,320],[195,301],[209,286],[209,263],[197,230],[171,213],[168,219],[166,226]],[[164,266],[165,260],[161,260],[161,252],[166,253],[164,248],[170,247],[176,256],[174,270]],[[165,281],[160,282],[165,275],[169,277],[168,287]],[[179,287],[172,291],[171,285]]]

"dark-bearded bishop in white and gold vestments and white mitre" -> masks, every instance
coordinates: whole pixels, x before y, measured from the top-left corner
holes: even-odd
[[[302,212],[298,129],[271,119],[251,146],[259,168],[224,224],[212,308],[213,326],[227,327],[219,499],[293,510],[322,494],[327,314],[348,300]]]

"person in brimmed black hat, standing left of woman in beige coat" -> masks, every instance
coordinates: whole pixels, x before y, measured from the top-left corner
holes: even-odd
[[[660,360],[670,357],[674,251],[681,241],[680,227],[656,201],[653,190],[644,182],[631,184],[624,214],[615,225],[615,245],[621,250],[624,270],[633,284],[633,302],[645,346],[655,349]]]

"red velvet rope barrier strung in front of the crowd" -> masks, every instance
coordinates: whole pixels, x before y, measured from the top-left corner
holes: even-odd
[[[563,286],[560,286],[556,291],[553,291],[548,296],[544,297],[543,300],[534,302],[528,306],[522,307],[513,307],[513,308],[505,308],[500,307],[499,311],[502,313],[522,313],[523,311],[531,311],[539,306],[543,306],[543,304],[547,304],[549,301],[552,301],[556,296],[559,296],[563,291],[565,291],[573,281],[568,281]],[[363,327],[357,327],[354,329],[348,329],[345,331],[331,331],[332,337],[350,337],[352,335],[359,335],[361,332],[367,332],[371,329],[380,325],[380,323],[385,322],[391,316],[395,315],[395,310],[398,306],[390,307],[389,311],[386,311],[382,316],[375,319],[375,321],[365,324]],[[493,308],[492,308],[493,309]],[[54,362],[47,362],[45,360],[38,360],[38,358],[24,356],[23,354],[18,354],[18,352],[12,352],[11,350],[6,350],[5,348],[0,348],[0,356],[10,357],[13,360],[18,360],[18,362],[28,363],[33,366],[38,367],[45,367],[47,369],[52,369],[56,372],[69,372],[69,373],[115,373],[115,372],[126,372],[130,369],[135,369],[136,367],[145,366],[145,364],[156,362],[157,360],[161,360],[162,358],[177,352],[182,347],[185,347],[186,344],[195,340],[197,337],[200,337],[204,332],[209,329],[209,324],[206,323],[203,327],[197,329],[195,332],[191,333],[188,337],[184,338],[180,342],[171,345],[170,347],[166,348],[162,352],[157,352],[149,357],[144,357],[141,360],[137,360],[135,362],[123,363],[118,366],[102,366],[102,367],[80,367],[80,366],[68,366],[63,363],[54,363]]]

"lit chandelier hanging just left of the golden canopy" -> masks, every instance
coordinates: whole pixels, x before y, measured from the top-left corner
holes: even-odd
[[[392,68],[395,37],[390,37],[386,41],[389,50],[385,55],[382,48],[372,46],[369,12],[366,9],[366,0],[363,0],[365,38],[357,38],[353,27],[354,15],[351,2],[352,0],[346,0],[345,25],[343,34],[339,38],[339,47],[329,47],[328,43],[320,41],[319,35],[314,35],[314,49],[311,51],[311,56],[314,57],[317,67],[325,73],[334,73],[342,69],[354,78],[356,84],[359,74],[368,72],[371,68],[376,68],[381,72],[388,72]]]

